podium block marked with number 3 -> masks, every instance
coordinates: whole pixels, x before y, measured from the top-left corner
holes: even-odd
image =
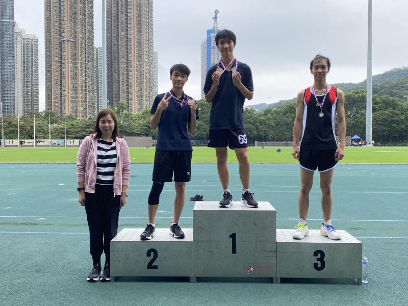
[[[310,230],[301,240],[292,238],[294,230],[276,230],[277,277],[356,278],[361,284],[363,244],[346,231],[337,231],[341,240]]]

